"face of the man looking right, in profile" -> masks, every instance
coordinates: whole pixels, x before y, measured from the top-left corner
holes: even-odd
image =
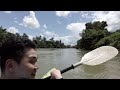
[[[34,49],[27,49],[20,64],[17,64],[15,76],[18,78],[34,79],[38,67],[36,66],[37,53]]]

